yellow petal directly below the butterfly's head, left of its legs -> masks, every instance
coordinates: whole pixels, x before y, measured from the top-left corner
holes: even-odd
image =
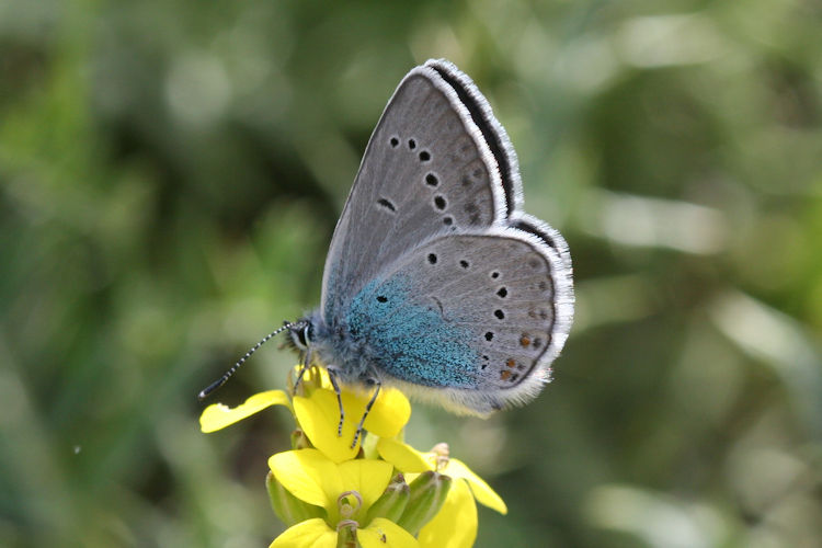
[[[356,456],[357,446],[352,447],[356,422],[353,422],[351,415],[357,414],[355,406],[346,406],[346,399],[343,399],[343,409],[345,410],[345,421],[343,423],[342,435],[336,435],[338,423],[340,422],[340,406],[336,402],[336,396],[330,390],[315,390],[310,398],[301,396],[294,397],[294,413],[297,415],[302,432],[306,433],[311,444],[320,449],[328,458],[334,463],[342,463]],[[365,409],[364,407],[362,409]],[[359,412],[362,415],[362,411]],[[357,416],[356,421],[359,421]]]

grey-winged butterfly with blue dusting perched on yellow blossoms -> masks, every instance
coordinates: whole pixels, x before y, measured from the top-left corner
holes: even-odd
[[[320,307],[282,329],[302,372],[328,370],[340,426],[340,385],[373,390],[366,414],[390,386],[488,415],[550,380],[573,300],[568,246],[523,212],[505,130],[468,76],[432,59],[402,79],[370,137]]]

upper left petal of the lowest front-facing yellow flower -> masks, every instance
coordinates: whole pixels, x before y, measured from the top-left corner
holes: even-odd
[[[277,453],[269,459],[274,477],[294,496],[309,504],[335,511],[343,492],[336,465],[317,449]]]

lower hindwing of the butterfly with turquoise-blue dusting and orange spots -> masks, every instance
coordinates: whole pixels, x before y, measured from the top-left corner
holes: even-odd
[[[434,238],[354,298],[346,324],[384,383],[476,414],[539,392],[573,294],[561,237],[527,228]]]

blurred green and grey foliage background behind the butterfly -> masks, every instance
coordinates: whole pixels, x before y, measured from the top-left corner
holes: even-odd
[[[0,545],[267,546],[271,410],[196,392],[319,300],[401,77],[447,57],[568,239],[555,383],[408,437],[511,512],[477,545],[822,537],[822,7],[802,0],[0,3]],[[266,346],[217,396],[281,387]]]

